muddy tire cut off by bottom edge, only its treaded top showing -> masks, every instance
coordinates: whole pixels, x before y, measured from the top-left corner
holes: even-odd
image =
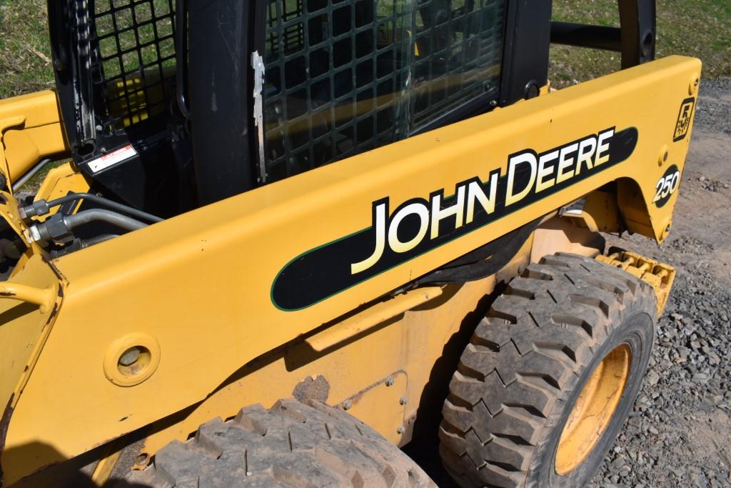
[[[134,486],[433,487],[409,457],[357,418],[321,402],[279,400],[243,408],[173,441]],[[126,486],[129,486],[127,484]]]

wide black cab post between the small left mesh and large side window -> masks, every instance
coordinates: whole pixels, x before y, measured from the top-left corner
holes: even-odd
[[[189,0],[188,89],[201,205],[254,187],[251,2]]]

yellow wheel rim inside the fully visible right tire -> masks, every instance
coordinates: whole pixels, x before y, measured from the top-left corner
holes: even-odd
[[[556,473],[563,476],[580,465],[596,446],[614,416],[629,376],[632,350],[622,344],[591,373],[558,440]]]

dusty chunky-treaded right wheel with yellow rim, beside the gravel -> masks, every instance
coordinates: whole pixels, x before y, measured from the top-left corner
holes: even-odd
[[[452,377],[447,471],[463,487],[583,486],[634,405],[655,315],[651,287],[620,269],[564,253],[531,264]]]

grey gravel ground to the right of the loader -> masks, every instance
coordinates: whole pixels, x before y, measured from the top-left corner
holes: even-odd
[[[610,239],[678,268],[635,410],[594,487],[731,486],[731,79],[703,83],[673,230]]]

